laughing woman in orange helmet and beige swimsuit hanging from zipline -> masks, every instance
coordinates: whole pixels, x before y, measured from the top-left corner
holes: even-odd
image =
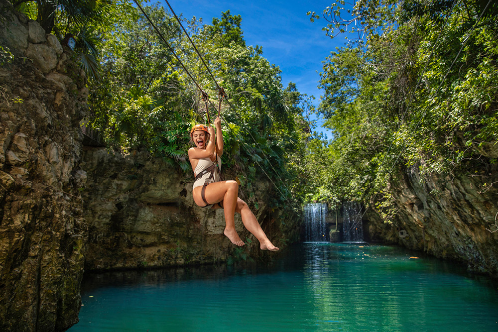
[[[220,91],[220,106],[221,98],[223,98],[222,91]],[[206,100],[205,103],[207,103]],[[207,104],[206,111],[208,122],[210,122]],[[223,155],[220,111],[214,120],[214,126],[216,130],[211,126],[211,123],[209,126],[196,124],[190,130],[190,138],[195,145],[188,150],[188,157],[195,177],[192,188],[195,204],[202,208],[224,209],[225,230],[223,233],[232,243],[238,246],[245,244],[235,229],[235,213],[237,212],[241,215],[247,230],[259,241],[259,247],[262,250],[277,251],[278,248],[268,239],[247,203],[239,198],[237,181],[220,181],[220,157]]]

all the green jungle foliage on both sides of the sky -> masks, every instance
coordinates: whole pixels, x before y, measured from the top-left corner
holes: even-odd
[[[138,8],[119,0],[14,5],[47,32],[75,35],[75,55],[89,76],[88,125],[109,148],[147,150],[191,171],[188,128],[207,122],[205,105]],[[483,153],[496,150],[498,139],[496,1],[340,1],[321,16],[310,12],[312,21],[327,21],[332,38],[353,33],[321,73],[318,112],[333,130],[330,141],[303,117],[314,111],[311,97],[292,83],[284,88],[261,47],[246,45],[240,15],[223,12],[211,24],[181,18],[209,73],[171,14],[158,5],[145,11],[210,96],[212,119],[218,90],[211,74],[227,91],[224,165],[249,193],[267,178],[284,204],[291,197],[358,200],[388,211],[389,188],[409,168],[448,179],[468,172],[469,160],[496,163]],[[494,185],[486,180],[483,190]]]

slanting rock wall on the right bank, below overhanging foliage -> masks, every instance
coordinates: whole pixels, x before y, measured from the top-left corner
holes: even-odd
[[[480,159],[497,158],[496,149]],[[498,277],[497,165],[469,162],[466,174],[422,182],[413,167],[391,186],[394,217],[386,222],[367,211],[369,240],[397,243],[468,264],[472,271]]]

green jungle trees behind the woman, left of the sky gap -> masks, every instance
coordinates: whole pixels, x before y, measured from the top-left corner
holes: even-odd
[[[102,134],[110,149],[146,150],[190,174],[189,129],[208,122],[200,91],[141,11],[115,5],[119,22],[99,30],[100,70],[89,78],[87,125]],[[159,5],[144,10],[209,95],[213,121],[219,96],[211,74],[174,16]],[[303,96],[292,83],[282,86],[279,68],[260,47],[246,45],[240,15],[226,11],[212,24],[195,17],[181,20],[229,97],[221,110],[224,169],[237,176],[248,195],[257,179],[269,179],[276,193],[273,203],[297,207],[292,192],[301,186],[293,180],[296,169],[290,160],[301,153],[309,135]]]

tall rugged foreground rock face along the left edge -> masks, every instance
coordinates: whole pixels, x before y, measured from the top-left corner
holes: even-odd
[[[0,2],[0,331],[64,331],[83,274],[88,91],[57,38]]]

